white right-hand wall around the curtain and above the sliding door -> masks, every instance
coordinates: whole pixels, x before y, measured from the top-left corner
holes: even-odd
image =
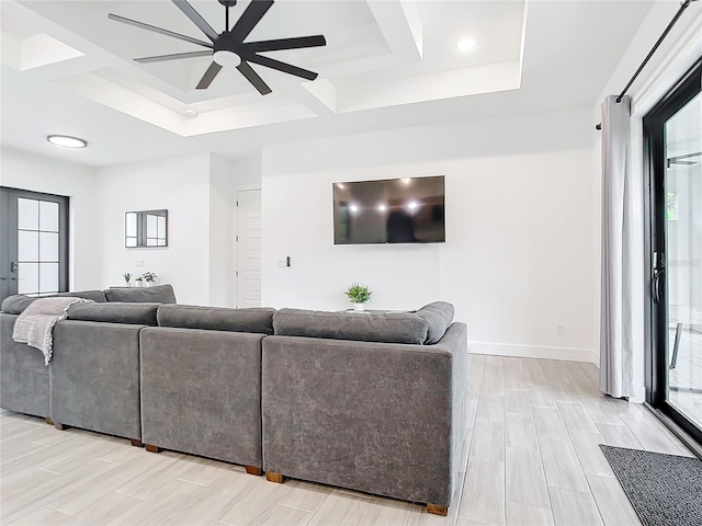
[[[641,28],[632,39],[624,56],[620,60],[616,69],[604,85],[598,103],[592,108],[592,126],[600,122],[600,103],[607,95],[619,94],[624,88],[631,76],[636,71],[641,61],[646,56],[650,47],[658,39],[663,31],[666,28],[672,16],[680,7],[679,2],[658,0],[652,7],[648,15],[641,25]],[[644,217],[643,202],[645,198],[644,184],[644,149],[643,149],[643,116],[670,90],[684,71],[702,56],[702,3],[693,2],[684,11],[676,26],[666,37],[661,46],[658,48],[652,60],[644,68],[638,79],[630,88],[629,94],[632,96],[632,119],[631,119],[631,160],[632,173],[636,178],[638,193],[642,195],[641,208],[638,210],[638,227],[641,237],[636,240],[638,250],[642,254],[641,261],[644,262]],[[600,286],[600,217],[601,217],[601,193],[602,193],[602,172],[601,172],[601,138],[600,133],[593,134],[593,194],[595,194],[595,220],[592,229],[595,232],[593,270],[596,278],[597,302],[595,304],[595,321],[597,338],[599,341],[599,286]],[[636,309],[635,316],[638,319],[638,332],[634,348],[636,353],[633,362],[633,378],[635,395],[632,401],[642,402],[645,397],[645,353],[646,345],[644,342],[645,329],[645,295],[644,290],[648,289],[648,283],[645,282],[645,270],[643,265],[637,270],[636,282],[641,284],[639,295],[634,301]],[[599,355],[599,345],[598,345]]]

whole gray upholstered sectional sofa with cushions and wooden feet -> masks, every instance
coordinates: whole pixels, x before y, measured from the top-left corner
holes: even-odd
[[[448,512],[463,471],[467,381],[467,330],[452,322],[452,306],[224,309],[170,305],[165,287],[93,291],[95,304],[72,305],[55,328],[48,367],[39,351],[12,341],[32,298],[8,298],[0,404],[59,428],[265,470],[274,482],[291,477]]]

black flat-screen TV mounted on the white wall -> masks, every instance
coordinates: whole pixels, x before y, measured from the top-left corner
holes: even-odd
[[[335,244],[445,240],[443,175],[333,184]]]

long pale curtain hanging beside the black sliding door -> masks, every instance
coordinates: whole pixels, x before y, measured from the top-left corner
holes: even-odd
[[[602,103],[602,305],[600,310],[600,390],[614,398],[633,396],[633,357],[638,294],[635,290],[637,221],[643,197],[631,170],[631,99]]]

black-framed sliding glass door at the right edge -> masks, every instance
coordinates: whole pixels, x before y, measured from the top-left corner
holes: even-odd
[[[644,118],[650,184],[648,401],[702,436],[700,65]]]

